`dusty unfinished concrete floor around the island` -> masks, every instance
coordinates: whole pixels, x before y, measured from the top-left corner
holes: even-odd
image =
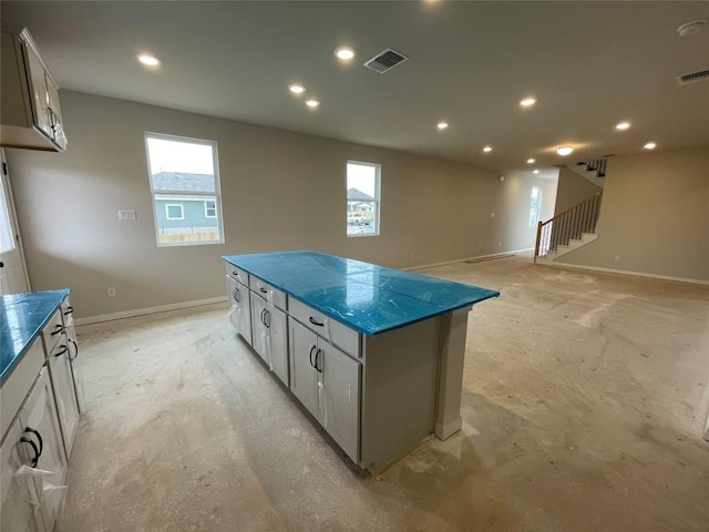
[[[60,530],[709,530],[709,287],[533,266],[422,270],[471,314],[464,427],[359,471],[223,306],[79,329]]]

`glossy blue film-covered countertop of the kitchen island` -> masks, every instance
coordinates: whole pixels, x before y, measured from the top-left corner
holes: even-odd
[[[316,252],[222,258],[368,336],[500,295],[477,286]]]

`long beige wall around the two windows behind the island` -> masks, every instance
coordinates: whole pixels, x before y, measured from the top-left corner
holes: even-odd
[[[8,160],[32,288],[72,288],[80,318],[226,295],[222,255],[306,248],[407,267],[534,246],[516,218],[490,216],[528,213],[528,198],[516,205],[490,171],[78,92],[61,99],[68,151],[8,150]],[[217,142],[224,245],[156,247],[146,131]],[[381,164],[379,237],[346,236],[347,160]],[[137,219],[120,222],[117,209]]]

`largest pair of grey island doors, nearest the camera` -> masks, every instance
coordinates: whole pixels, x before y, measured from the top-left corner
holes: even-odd
[[[292,318],[290,389],[359,463],[361,364]]]

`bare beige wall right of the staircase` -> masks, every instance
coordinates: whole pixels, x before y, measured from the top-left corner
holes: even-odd
[[[598,239],[562,262],[709,280],[708,229],[709,147],[614,157]]]

